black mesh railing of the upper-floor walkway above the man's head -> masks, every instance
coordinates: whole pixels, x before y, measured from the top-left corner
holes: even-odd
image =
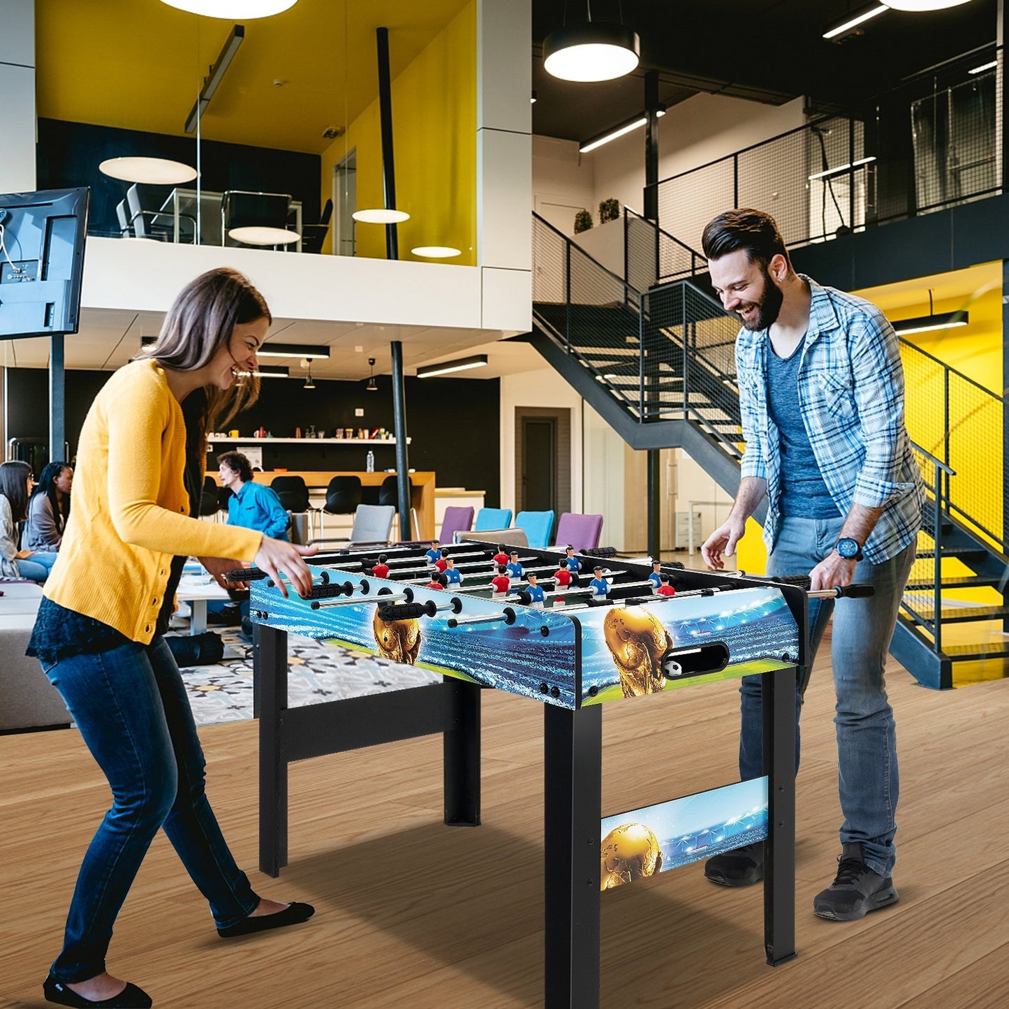
[[[995,66],[980,70],[986,64]],[[688,245],[732,207],[774,214],[804,245],[1002,192],[1002,49],[915,76],[857,115],[814,121],[657,185],[659,224]]]

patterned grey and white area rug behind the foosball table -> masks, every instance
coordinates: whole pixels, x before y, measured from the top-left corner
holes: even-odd
[[[224,640],[224,659],[182,670],[196,722],[210,725],[251,718],[252,645],[238,628],[211,630]],[[294,635],[288,638],[288,661],[291,707],[441,682],[441,676],[427,669]]]

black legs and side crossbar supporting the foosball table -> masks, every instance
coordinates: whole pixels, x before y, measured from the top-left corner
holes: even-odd
[[[288,765],[443,734],[445,822],[480,822],[480,691],[445,677],[412,687],[288,707],[288,634],[254,630],[259,717],[259,868],[288,864]],[[795,956],[795,669],[762,674],[768,775],[764,947],[772,966]],[[599,823],[602,705],[544,704],[544,1005],[599,1004]],[[568,871],[564,872],[563,867]]]

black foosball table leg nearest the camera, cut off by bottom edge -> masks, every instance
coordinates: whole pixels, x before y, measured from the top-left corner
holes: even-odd
[[[602,708],[544,705],[547,1009],[599,1004]]]

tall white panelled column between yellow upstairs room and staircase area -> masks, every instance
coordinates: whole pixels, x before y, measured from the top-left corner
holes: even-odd
[[[476,0],[476,262],[482,325],[532,325],[531,0]]]

